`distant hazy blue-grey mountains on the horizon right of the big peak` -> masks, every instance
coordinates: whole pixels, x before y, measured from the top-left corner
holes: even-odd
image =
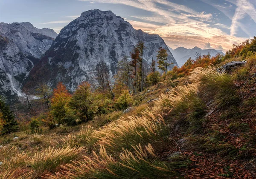
[[[221,50],[215,50],[215,49],[203,50],[198,47],[194,47],[192,49],[188,49],[184,47],[178,47],[176,49],[172,49],[169,47],[169,50],[172,52],[173,57],[175,57],[179,66],[182,66],[189,59],[189,57],[195,60],[197,54],[207,55],[208,53],[210,53],[211,56],[215,56],[216,54],[224,55],[224,53]]]

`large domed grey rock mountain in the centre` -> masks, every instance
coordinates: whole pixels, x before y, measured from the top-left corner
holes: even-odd
[[[94,69],[101,60],[113,77],[117,64],[138,41],[145,42],[145,65],[156,59],[157,50],[163,47],[169,54],[169,63],[177,65],[164,40],[157,34],[135,30],[122,17],[112,11],[90,10],[65,26],[44,57],[32,69],[26,88],[46,82],[55,87],[61,81],[71,91],[82,81],[95,83]]]

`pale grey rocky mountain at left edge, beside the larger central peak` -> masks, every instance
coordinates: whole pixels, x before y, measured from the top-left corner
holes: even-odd
[[[0,95],[22,96],[20,87],[57,34],[31,23],[0,23]]]

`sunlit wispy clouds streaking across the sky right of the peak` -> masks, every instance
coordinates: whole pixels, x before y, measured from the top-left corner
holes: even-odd
[[[229,49],[233,43],[240,43],[244,38],[237,38],[237,29],[241,27],[245,32],[246,28],[241,26],[245,14],[249,14],[256,21],[256,10],[250,0],[225,0],[225,3],[216,3],[211,0],[201,0],[204,3],[210,4],[209,7],[215,8],[216,13],[209,13],[207,9],[196,11],[189,6],[173,3],[170,0],[79,0],[95,3],[113,3],[133,6],[138,9],[153,12],[154,16],[134,18],[127,17],[128,21],[134,28],[140,28],[148,33],[159,34],[166,40],[168,45],[180,44],[188,47],[189,45],[201,45],[204,48],[205,43],[210,42],[212,47],[219,49]],[[182,1],[182,0],[181,0]],[[201,1],[198,0],[198,3]],[[182,1],[183,2],[183,1]],[[189,3],[188,3],[189,4]],[[230,8],[235,10],[233,16]],[[204,10],[204,11],[203,11]],[[232,20],[230,24],[222,23],[219,19],[220,11],[228,12],[227,20]],[[250,12],[249,12],[250,11]],[[225,20],[223,20],[224,22]],[[160,24],[162,23],[162,25]],[[225,32],[224,32],[225,31]],[[231,31],[231,34],[229,34]],[[249,32],[247,32],[249,33]],[[172,39],[174,38],[174,39]],[[240,41],[241,40],[241,41]]]

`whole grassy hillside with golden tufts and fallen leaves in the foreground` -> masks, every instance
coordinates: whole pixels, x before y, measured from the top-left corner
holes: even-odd
[[[256,178],[255,62],[153,86],[128,114],[2,137],[0,178]]]

